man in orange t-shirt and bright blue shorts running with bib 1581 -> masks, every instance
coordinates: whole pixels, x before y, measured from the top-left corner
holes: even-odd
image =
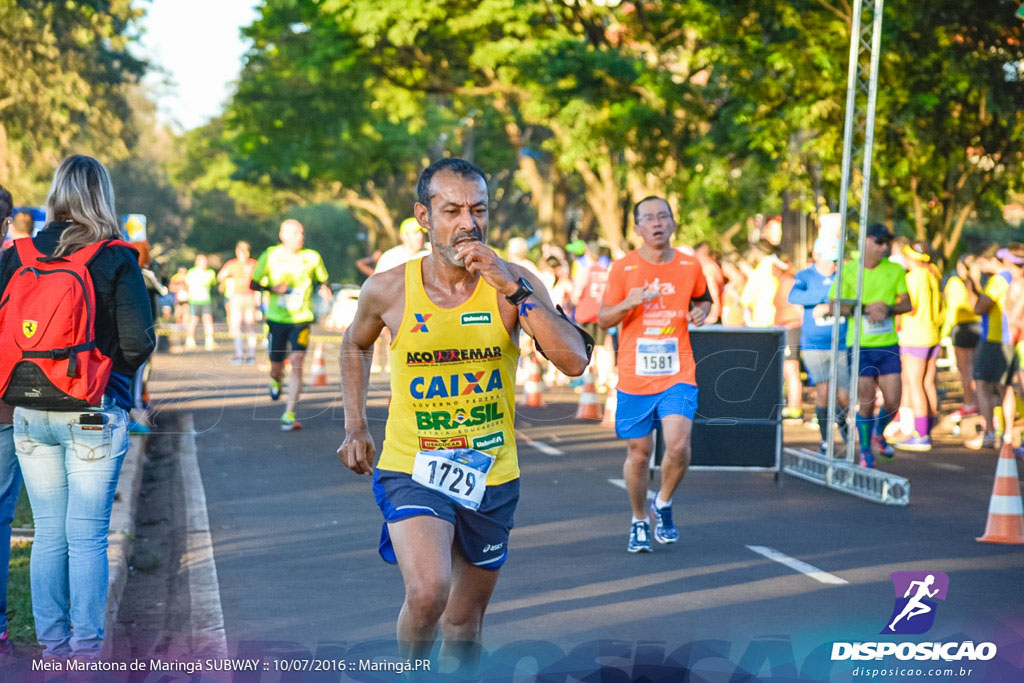
[[[633,209],[640,249],[612,264],[598,324],[618,326],[615,434],[628,440],[623,474],[633,508],[627,550],[651,551],[647,521],[647,463],[651,432],[665,434],[662,487],[650,507],[658,543],[676,543],[672,495],[690,464],[690,432],[697,410],[696,365],[689,325],[702,325],[711,309],[700,263],[672,247],[676,221],[669,203],[648,197]]]

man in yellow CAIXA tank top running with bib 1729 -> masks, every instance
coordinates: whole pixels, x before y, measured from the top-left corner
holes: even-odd
[[[518,501],[515,368],[520,328],[566,375],[589,362],[587,343],[556,311],[541,281],[485,244],[487,182],[461,159],[432,164],[417,183],[415,214],[433,252],[373,275],[342,342],[345,440],[338,456],[374,475],[384,513],[381,556],[406,585],[398,643],[471,673],[483,613],[508,555]],[[384,444],[367,426],[374,341],[391,332],[391,407]]]

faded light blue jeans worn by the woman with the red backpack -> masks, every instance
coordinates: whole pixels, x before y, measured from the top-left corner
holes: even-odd
[[[95,656],[103,645],[106,537],[128,444],[120,408],[14,409],[14,447],[36,521],[32,613],[43,654]]]

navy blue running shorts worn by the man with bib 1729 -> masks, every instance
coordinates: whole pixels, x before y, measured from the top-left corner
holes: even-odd
[[[471,564],[497,569],[509,554],[509,531],[519,502],[519,479],[487,486],[478,510],[464,508],[447,496],[422,486],[404,472],[376,470],[374,496],[384,514],[378,551],[385,562],[396,564],[388,522],[433,515],[455,526],[455,540]]]

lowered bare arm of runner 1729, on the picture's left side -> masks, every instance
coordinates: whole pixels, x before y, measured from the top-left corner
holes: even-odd
[[[384,315],[393,304],[394,278],[374,275],[359,292],[352,324],[341,341],[341,397],[345,411],[345,440],[338,458],[356,474],[373,474],[377,447],[367,426],[367,390],[374,342],[384,329]]]

